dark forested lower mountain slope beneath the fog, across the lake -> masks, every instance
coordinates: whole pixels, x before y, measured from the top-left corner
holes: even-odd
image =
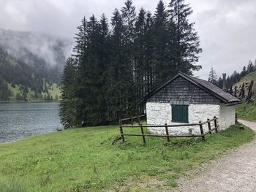
[[[59,85],[0,46],[0,101],[58,100]]]

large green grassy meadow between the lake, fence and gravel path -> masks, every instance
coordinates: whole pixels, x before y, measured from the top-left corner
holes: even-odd
[[[134,131],[134,130],[128,130]],[[127,137],[118,126],[72,128],[0,145],[0,191],[155,191],[253,139],[237,124],[200,139]],[[116,142],[115,142],[116,141]]]

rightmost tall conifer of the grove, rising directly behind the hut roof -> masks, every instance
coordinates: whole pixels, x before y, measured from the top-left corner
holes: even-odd
[[[195,65],[198,53],[201,53],[199,37],[195,32],[195,23],[189,23],[192,9],[184,0],[171,0],[169,4],[170,23],[173,23],[172,47],[175,51],[176,71],[192,74],[192,70],[199,70]]]

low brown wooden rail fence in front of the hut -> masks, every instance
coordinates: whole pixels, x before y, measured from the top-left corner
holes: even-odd
[[[143,139],[143,143],[146,143],[146,138],[145,137],[166,137],[167,138],[167,142],[170,142],[170,138],[171,137],[202,137],[202,140],[206,139],[206,134],[211,134],[212,131],[215,130],[216,133],[218,133],[218,128],[219,125],[217,125],[217,117],[214,116],[213,119],[207,119],[205,122],[201,122],[199,121],[199,123],[190,123],[190,124],[177,124],[177,125],[167,125],[165,123],[165,125],[163,126],[143,126],[140,121],[138,122],[138,126],[134,126],[132,123],[132,126],[128,126],[128,125],[123,125],[122,122],[124,120],[131,120],[131,118],[125,118],[125,119],[121,119],[120,120],[120,134],[121,134],[121,139],[124,142],[124,136],[140,136]],[[211,122],[214,121],[214,127],[211,127]],[[208,131],[204,132],[203,131],[203,125],[207,124],[208,125]],[[169,134],[169,127],[184,127],[184,126],[198,126],[198,128],[200,128],[200,134],[187,134],[187,135],[171,135]],[[157,128],[165,128],[165,133],[166,134],[144,134],[144,130],[143,128],[148,128],[148,127],[157,127]],[[124,128],[140,128],[141,134],[124,134]]]

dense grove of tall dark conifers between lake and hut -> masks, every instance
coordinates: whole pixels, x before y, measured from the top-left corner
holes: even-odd
[[[127,0],[111,18],[83,18],[64,66],[61,122],[97,126],[142,114],[143,96],[177,72],[199,70],[191,14],[183,0],[160,0],[154,13]]]

